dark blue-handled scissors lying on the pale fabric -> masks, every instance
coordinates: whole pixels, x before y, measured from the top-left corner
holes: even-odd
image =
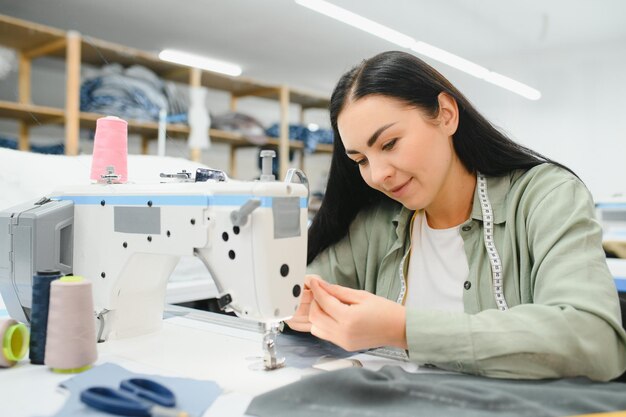
[[[176,397],[167,387],[145,378],[125,379],[120,389],[91,387],[80,393],[80,400],[100,411],[119,416],[189,417],[175,409]]]

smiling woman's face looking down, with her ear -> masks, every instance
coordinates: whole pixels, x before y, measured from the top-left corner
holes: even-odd
[[[452,146],[456,114],[447,111],[448,104],[456,111],[454,101],[441,94],[439,115],[429,119],[423,111],[381,95],[348,102],[337,125],[365,182],[411,210],[436,202],[458,161]]]

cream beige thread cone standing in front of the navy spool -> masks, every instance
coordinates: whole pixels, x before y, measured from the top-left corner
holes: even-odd
[[[54,372],[77,373],[97,358],[91,282],[78,276],[53,281],[45,364]]]

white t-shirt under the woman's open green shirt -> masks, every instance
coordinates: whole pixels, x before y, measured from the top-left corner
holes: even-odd
[[[433,229],[426,212],[413,221],[406,307],[463,312],[463,283],[469,275],[460,225]]]

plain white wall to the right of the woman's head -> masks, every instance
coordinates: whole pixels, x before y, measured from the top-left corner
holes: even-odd
[[[530,101],[455,74],[457,85],[513,139],[573,169],[596,201],[626,192],[626,46],[571,48],[492,60],[542,92]],[[471,82],[470,82],[471,81]]]

